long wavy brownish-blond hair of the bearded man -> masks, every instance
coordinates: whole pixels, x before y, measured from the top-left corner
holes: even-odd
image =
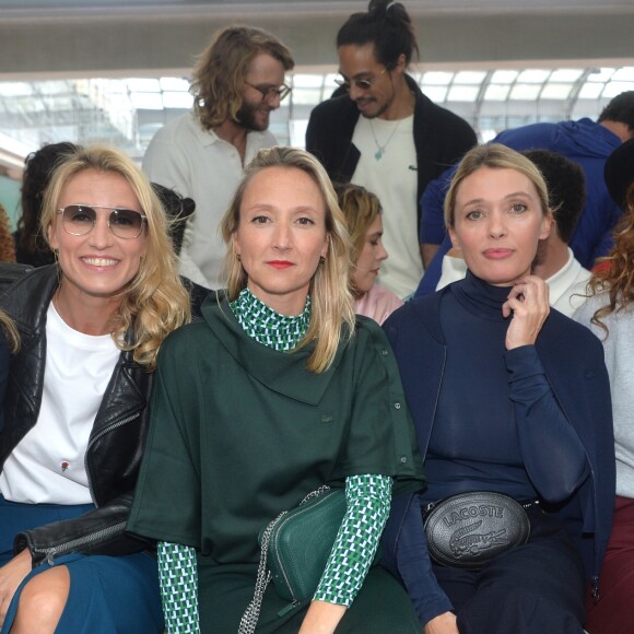
[[[193,111],[206,130],[216,128],[226,119],[237,121],[245,77],[260,54],[280,61],[285,71],[295,66],[291,51],[281,42],[250,26],[227,26],[216,32],[200,54],[189,92],[193,95]]]

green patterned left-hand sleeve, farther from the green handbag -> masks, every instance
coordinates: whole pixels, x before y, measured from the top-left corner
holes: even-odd
[[[158,542],[158,580],[168,634],[199,634],[196,550]]]

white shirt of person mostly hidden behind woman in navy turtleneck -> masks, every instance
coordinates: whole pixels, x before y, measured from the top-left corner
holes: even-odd
[[[466,274],[467,262],[462,258],[445,256],[443,258],[443,272],[436,284],[436,291],[451,282],[461,280]],[[590,271],[582,267],[568,247],[566,263],[545,281],[549,285],[550,305],[570,317],[585,302],[586,285],[590,275]]]

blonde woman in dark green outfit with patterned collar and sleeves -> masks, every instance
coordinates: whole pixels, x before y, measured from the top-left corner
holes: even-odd
[[[420,632],[371,567],[394,493],[423,484],[391,350],[352,313],[349,237],[310,154],[261,151],[222,232],[226,297],[169,337],[128,529],[158,540],[169,632],[248,630],[258,533],[324,484],[347,512],[312,600],[269,585],[256,632]]]

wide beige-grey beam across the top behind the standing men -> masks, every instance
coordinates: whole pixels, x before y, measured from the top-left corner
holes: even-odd
[[[423,64],[632,59],[633,0],[404,0]],[[336,63],[338,27],[365,1],[0,0],[0,79],[178,74],[216,28],[275,33],[301,67]]]

